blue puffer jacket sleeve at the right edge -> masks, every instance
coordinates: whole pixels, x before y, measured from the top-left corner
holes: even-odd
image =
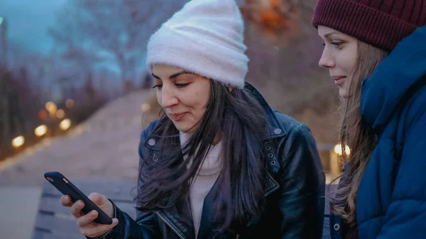
[[[377,239],[426,238],[426,100],[415,106],[409,113],[391,203]]]

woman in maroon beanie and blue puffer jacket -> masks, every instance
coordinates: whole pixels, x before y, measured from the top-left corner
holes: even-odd
[[[331,237],[426,238],[426,0],[319,0],[312,23],[351,149]]]

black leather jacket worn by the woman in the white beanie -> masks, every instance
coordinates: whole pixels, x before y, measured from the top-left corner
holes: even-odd
[[[229,228],[214,233],[209,216],[209,201],[215,185],[204,199],[202,219],[197,238],[288,238],[320,239],[324,220],[325,177],[310,128],[282,113],[273,111],[263,96],[250,84],[246,89],[258,99],[268,119],[268,137],[263,140],[268,157],[268,179],[265,182],[266,210],[260,221],[250,228]],[[150,157],[158,151],[158,138],[150,135],[158,121],[153,121],[141,134],[139,154]],[[274,146],[275,145],[275,146]],[[107,239],[192,239],[192,223],[184,221],[175,209],[137,211],[136,221],[116,208],[119,225],[108,233]]]

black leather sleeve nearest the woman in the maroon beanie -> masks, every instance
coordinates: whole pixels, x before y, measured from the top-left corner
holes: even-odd
[[[325,176],[310,128],[303,123],[280,145],[281,238],[321,239]]]

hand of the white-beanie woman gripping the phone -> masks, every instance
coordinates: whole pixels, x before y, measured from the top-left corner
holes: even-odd
[[[111,204],[111,201],[107,199],[107,197],[98,193],[92,193],[88,196],[88,198],[92,200],[94,204],[99,206],[99,209],[102,209],[102,211],[107,213],[110,218],[114,217],[114,206]],[[82,212],[84,202],[79,200],[73,204],[70,196],[61,196],[60,203],[62,206],[71,208],[71,214],[77,220],[77,226],[79,226],[81,233],[89,238],[96,238],[100,235],[104,235],[104,233],[107,233],[111,228],[114,228],[114,226],[119,223],[117,218],[112,219],[111,225],[95,223],[94,219],[97,218],[98,212],[93,210],[84,215]]]

